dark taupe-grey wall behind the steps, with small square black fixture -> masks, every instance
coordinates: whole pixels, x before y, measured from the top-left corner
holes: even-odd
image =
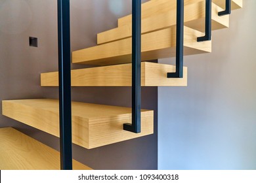
[[[0,101],[58,98],[57,88],[41,88],[39,74],[56,71],[57,20],[53,0],[0,0]],[[96,33],[117,26],[131,12],[129,0],[72,0],[72,50],[96,45]],[[28,37],[38,37],[38,48]],[[84,67],[77,66],[75,67]],[[74,145],[74,158],[93,169],[157,169],[158,90],[142,88],[142,108],[155,111],[155,133],[93,150]],[[131,106],[131,88],[73,88],[74,101]],[[0,116],[0,127],[12,126],[58,149],[58,138]]]

